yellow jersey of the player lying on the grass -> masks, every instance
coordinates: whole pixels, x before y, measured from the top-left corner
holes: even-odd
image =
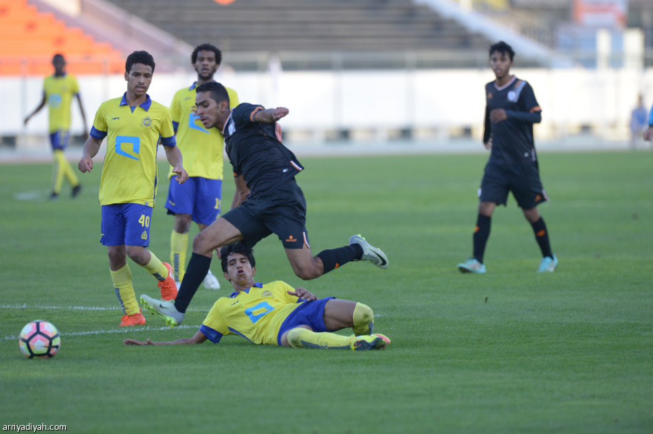
[[[215,302],[199,330],[213,343],[225,334],[237,334],[253,343],[278,345],[283,321],[301,302],[286,291],[295,288],[277,280],[221,297]]]

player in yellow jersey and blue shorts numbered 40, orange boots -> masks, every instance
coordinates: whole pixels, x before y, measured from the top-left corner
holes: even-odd
[[[107,155],[100,178],[100,242],[109,251],[111,279],[124,312],[121,327],[145,323],[134,295],[127,256],[157,279],[163,299],[174,299],[177,295],[170,264],[161,262],[146,249],[157,192],[159,137],[177,174],[177,182],[188,179],[181,152],[175,146],[170,111],[147,94],[154,66],[148,52],[133,52],[127,57],[124,73],[127,91],[122,98],[100,104],[78,165],[81,172],[90,172],[93,157],[107,137]]]

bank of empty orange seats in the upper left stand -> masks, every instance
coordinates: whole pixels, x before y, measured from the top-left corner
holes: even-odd
[[[63,54],[74,74],[120,73],[124,56],[76,27],[67,27],[27,0],[0,0],[0,76],[52,73],[52,56]]]

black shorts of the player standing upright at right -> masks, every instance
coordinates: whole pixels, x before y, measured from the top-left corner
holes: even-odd
[[[549,200],[536,163],[510,166],[487,163],[478,190],[480,201],[506,205],[508,192],[512,192],[522,209],[531,209]]]

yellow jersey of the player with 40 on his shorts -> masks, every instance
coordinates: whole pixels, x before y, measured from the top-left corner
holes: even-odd
[[[124,95],[100,105],[91,128],[91,137],[107,137],[100,205],[140,203],[154,207],[159,136],[164,146],[175,146],[170,111],[149,96],[137,107],[127,105]]]

